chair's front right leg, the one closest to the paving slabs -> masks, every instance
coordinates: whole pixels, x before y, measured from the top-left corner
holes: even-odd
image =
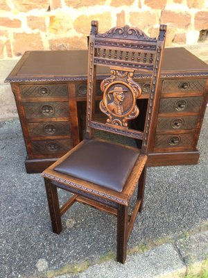
[[[125,263],[128,243],[128,206],[119,204],[117,215],[117,256],[119,263]]]

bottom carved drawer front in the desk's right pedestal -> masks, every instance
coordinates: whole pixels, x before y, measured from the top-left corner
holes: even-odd
[[[173,148],[192,146],[194,134],[175,134],[175,135],[157,135],[155,137],[155,148]]]

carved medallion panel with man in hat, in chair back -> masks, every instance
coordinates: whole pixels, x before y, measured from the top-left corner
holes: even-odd
[[[134,70],[113,70],[111,76],[101,82],[103,99],[100,109],[107,115],[107,123],[128,127],[128,121],[139,115],[137,98],[140,86],[132,80]]]

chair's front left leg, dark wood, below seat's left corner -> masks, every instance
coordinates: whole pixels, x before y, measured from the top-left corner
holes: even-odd
[[[62,221],[60,215],[60,206],[58,202],[57,188],[53,186],[49,179],[44,179],[44,182],[49,204],[49,212],[51,215],[52,229],[55,234],[60,234],[60,232],[62,231]]]

